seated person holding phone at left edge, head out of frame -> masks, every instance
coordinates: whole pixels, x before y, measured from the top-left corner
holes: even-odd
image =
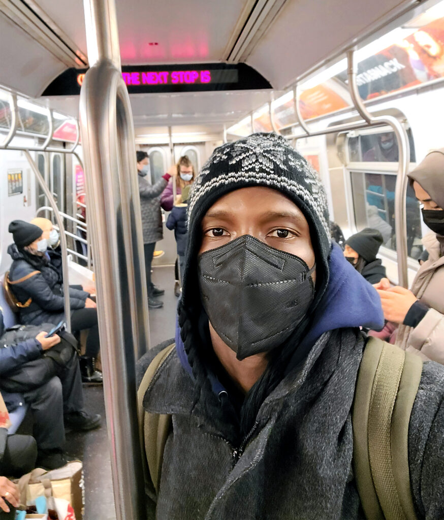
[[[77,431],[100,426],[100,415],[83,407],[83,389],[77,353],[71,335],[45,337],[53,327],[26,326],[5,331],[0,310],[0,387],[9,412],[17,407],[19,392],[31,408],[37,466],[55,469],[67,460],[63,453],[64,424]],[[60,344],[61,348],[50,350]],[[35,362],[41,360],[41,363]],[[11,393],[12,392],[12,393]],[[63,424],[64,422],[64,424]],[[31,468],[32,469],[32,468]]]

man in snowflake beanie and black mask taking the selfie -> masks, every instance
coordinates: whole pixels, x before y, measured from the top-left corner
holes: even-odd
[[[383,315],[332,246],[327,208],[316,173],[274,134],[217,148],[193,184],[176,345],[143,397],[172,416],[149,518],[364,518],[351,409],[359,326],[382,328]],[[424,365],[410,416],[428,520],[444,518],[443,381],[444,367]]]

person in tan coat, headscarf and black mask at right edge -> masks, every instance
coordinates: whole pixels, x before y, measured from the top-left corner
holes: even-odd
[[[387,278],[374,287],[385,319],[399,324],[396,344],[444,365],[444,148],[429,152],[409,178],[424,223],[432,230],[422,240],[429,257],[410,291],[390,288]]]

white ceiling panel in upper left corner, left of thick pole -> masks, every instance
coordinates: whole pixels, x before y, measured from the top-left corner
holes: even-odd
[[[0,12],[0,84],[38,96],[64,69],[66,65]]]

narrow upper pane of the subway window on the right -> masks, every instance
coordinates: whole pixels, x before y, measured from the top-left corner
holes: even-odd
[[[410,128],[410,162],[415,162],[415,145]],[[349,162],[398,162],[398,142],[394,132],[362,134],[348,138]]]

